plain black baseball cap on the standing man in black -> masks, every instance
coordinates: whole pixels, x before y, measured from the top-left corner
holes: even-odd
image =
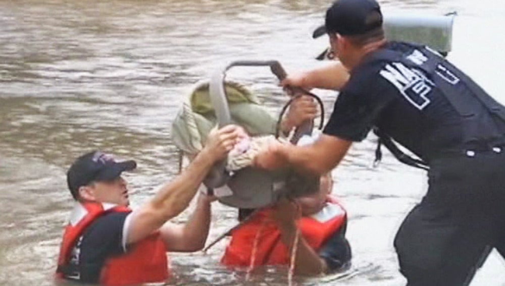
[[[382,12],[375,0],[336,0],[326,10],[324,26],[317,28],[312,37],[325,33],[363,35],[381,28],[382,22]]]

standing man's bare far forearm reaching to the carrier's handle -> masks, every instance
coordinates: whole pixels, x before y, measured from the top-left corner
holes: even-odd
[[[300,74],[288,75],[281,85],[298,86],[305,89],[322,88],[340,90],[347,80],[349,73],[340,62],[331,63],[325,67],[318,68]]]

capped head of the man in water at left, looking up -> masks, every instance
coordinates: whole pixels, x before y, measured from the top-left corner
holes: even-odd
[[[123,171],[137,166],[133,160],[118,162],[110,154],[92,151],[77,158],[67,171],[70,193],[77,201],[129,205]]]

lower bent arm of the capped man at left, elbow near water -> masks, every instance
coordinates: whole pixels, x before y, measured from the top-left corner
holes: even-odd
[[[166,222],[161,236],[167,251],[198,251],[203,249],[211,224],[211,203],[214,196],[200,193],[193,214],[184,225]]]

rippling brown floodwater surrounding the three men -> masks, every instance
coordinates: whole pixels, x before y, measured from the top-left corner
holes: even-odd
[[[60,236],[72,199],[65,171],[101,149],[138,162],[127,176],[133,206],[177,174],[170,125],[186,90],[231,60],[280,61],[288,71],[320,65],[313,40],[330,1],[0,1],[0,285],[53,285]],[[441,15],[457,11],[449,60],[505,102],[497,0],[389,0],[383,10]],[[272,112],[286,101],[267,69],[237,68],[230,78],[260,94]],[[331,110],[335,94],[319,92]],[[425,192],[425,174],[384,151],[372,168],[375,138],[356,144],[337,168],[334,193],[349,212],[356,267],[340,282],[307,285],[402,285],[392,240]],[[183,222],[190,210],[174,219]],[[236,211],[216,203],[210,240],[234,224]],[[286,284],[286,269],[245,282],[219,266],[222,241],[209,251],[170,254],[171,284]],[[496,253],[472,285],[505,285]]]

